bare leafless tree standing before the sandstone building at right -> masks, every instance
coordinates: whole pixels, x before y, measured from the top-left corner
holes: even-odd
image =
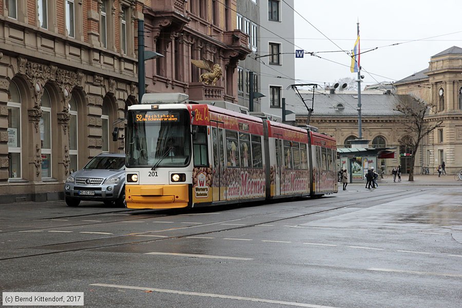
[[[427,103],[412,95],[395,95],[395,98],[397,103],[393,110],[403,115],[397,121],[401,122],[403,130],[409,133],[409,138],[403,138],[401,142],[412,149],[409,181],[414,181],[415,153],[420,141],[435,128],[440,127],[443,121],[428,119],[430,109],[435,106],[433,103]]]

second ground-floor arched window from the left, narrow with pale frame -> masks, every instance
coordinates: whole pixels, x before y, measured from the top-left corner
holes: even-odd
[[[51,178],[51,99],[47,89],[44,89],[40,118],[40,140],[42,141],[42,178]]]

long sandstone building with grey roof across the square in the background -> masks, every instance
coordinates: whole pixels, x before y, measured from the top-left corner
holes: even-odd
[[[311,93],[305,93],[311,99]],[[420,143],[417,153],[406,146],[411,138],[396,121],[401,114],[393,110],[401,95],[410,95],[435,105],[426,121],[443,120],[442,126]],[[431,57],[429,67],[394,83],[394,91],[361,92],[362,137],[371,140],[370,147],[396,147],[395,158],[379,162],[389,172],[400,164],[409,170],[409,156],[415,155],[415,174],[428,167],[436,174],[436,167],[446,163],[446,171],[453,174],[462,168],[462,48],[451,47]],[[295,109],[297,122],[306,124],[304,106]],[[310,124],[333,135],[338,147],[349,147],[348,140],[358,137],[356,91],[315,94],[314,113]]]

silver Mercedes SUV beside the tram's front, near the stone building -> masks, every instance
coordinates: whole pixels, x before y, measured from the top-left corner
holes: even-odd
[[[87,200],[125,207],[125,154],[102,153],[93,157],[83,169],[67,177],[64,195],[69,206]]]

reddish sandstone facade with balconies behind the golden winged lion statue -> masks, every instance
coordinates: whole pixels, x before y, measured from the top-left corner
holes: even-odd
[[[152,1],[143,10],[146,50],[163,57],[146,61],[146,92],[183,92],[190,100],[238,103],[239,61],[251,52],[236,24],[236,0]],[[204,84],[190,60],[219,65],[216,84]]]

